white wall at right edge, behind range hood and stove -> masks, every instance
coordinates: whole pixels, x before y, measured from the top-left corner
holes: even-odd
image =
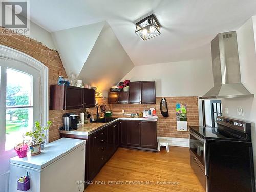
[[[237,30],[241,79],[244,86],[256,96],[256,17],[252,17]],[[243,108],[243,116],[237,115],[237,108]],[[254,165],[256,164],[256,98],[222,99],[222,108],[228,108],[227,117],[245,119],[252,122],[252,145]],[[255,166],[254,166],[255,167]],[[254,168],[255,169],[255,168]]]

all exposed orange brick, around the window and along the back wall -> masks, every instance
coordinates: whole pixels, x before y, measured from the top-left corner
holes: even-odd
[[[51,84],[56,84],[58,76],[67,77],[65,69],[63,68],[61,59],[56,50],[49,49],[41,42],[37,42],[29,37],[18,34],[1,34],[0,44],[9,46],[16,50],[22,51],[38,61],[42,62],[49,68],[49,87]],[[163,118],[160,113],[160,100],[162,97],[156,98],[157,104],[108,104],[108,98],[97,98],[99,104],[104,102],[107,105],[107,109],[111,109],[113,113],[122,113],[122,109],[125,113],[141,112],[143,109],[154,107],[157,109],[157,115],[159,116],[157,122],[157,135],[163,137],[178,137],[188,138],[187,132],[177,131],[176,128],[176,103],[187,104],[187,118],[188,125],[198,125],[198,106],[197,97],[165,97],[168,104],[169,117]],[[53,122],[49,130],[49,142],[59,139],[59,128],[63,126],[62,115],[68,112],[80,113],[82,110],[49,110],[49,120]],[[90,108],[90,112],[96,114],[96,108]]]

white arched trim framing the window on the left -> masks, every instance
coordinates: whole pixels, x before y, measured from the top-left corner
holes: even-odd
[[[42,64],[40,61],[34,59],[33,57],[15,50],[13,48],[4,46],[4,45],[0,45],[0,59],[7,59],[7,60],[15,60],[18,62],[22,62],[25,65],[28,65],[36,70],[39,71],[40,73],[40,80],[39,80],[39,96],[40,96],[40,122],[42,124],[42,126],[46,126],[47,125],[47,121],[48,121],[48,113],[49,113],[49,105],[48,105],[48,67],[45,66],[44,64]],[[3,82],[2,82],[3,83]],[[1,113],[1,112],[0,112]],[[0,133],[2,133],[2,131],[0,130]],[[47,132],[47,143],[49,141],[48,138],[48,132]],[[0,143],[1,146],[2,143]],[[0,149],[0,151],[2,150],[2,148]]]

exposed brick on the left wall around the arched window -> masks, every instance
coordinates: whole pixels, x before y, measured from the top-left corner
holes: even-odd
[[[46,65],[49,68],[49,87],[57,83],[58,76],[67,77],[58,52],[36,40],[10,33],[0,35],[0,44],[22,51]],[[59,127],[63,126],[62,115],[68,112],[80,113],[80,110],[49,110],[49,120],[53,122],[49,130],[50,142],[59,138]]]

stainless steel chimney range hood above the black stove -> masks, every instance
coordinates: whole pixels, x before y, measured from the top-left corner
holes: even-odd
[[[219,33],[211,41],[214,87],[201,99],[254,97],[241,83],[236,31]]]

